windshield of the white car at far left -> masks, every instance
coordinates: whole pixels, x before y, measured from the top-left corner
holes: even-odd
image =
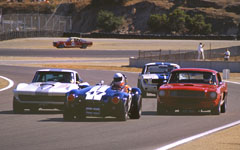
[[[72,83],[74,82],[74,74],[72,72],[46,72],[38,71],[33,78],[33,82],[61,82]]]

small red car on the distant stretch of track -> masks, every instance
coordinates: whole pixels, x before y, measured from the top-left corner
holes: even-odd
[[[57,48],[87,48],[92,45],[92,42],[80,39],[78,37],[70,37],[66,41],[53,42],[53,46]]]

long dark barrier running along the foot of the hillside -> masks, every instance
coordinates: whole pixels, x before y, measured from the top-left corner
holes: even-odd
[[[83,37],[119,39],[185,39],[185,40],[240,40],[240,35],[160,35],[160,34],[118,34],[118,33],[81,33],[54,30],[11,31],[0,33],[0,40],[28,37]]]

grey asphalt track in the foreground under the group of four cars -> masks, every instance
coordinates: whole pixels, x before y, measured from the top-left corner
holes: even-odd
[[[0,66],[0,74],[15,82],[31,82],[38,68]],[[101,79],[109,84],[114,71],[77,70],[90,84]],[[129,84],[136,86],[137,73],[125,73]],[[156,149],[180,139],[208,131],[240,118],[239,85],[228,84],[228,109],[219,116],[201,114],[156,115],[156,98],[143,99],[139,120],[116,121],[114,118],[88,118],[65,122],[58,110],[41,110],[37,114],[13,114],[13,88],[0,92],[1,150]]]

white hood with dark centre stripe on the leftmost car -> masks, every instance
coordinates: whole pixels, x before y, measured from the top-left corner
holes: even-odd
[[[72,89],[78,89],[78,85],[60,82],[20,83],[14,89],[14,94],[37,95],[47,93],[48,95],[65,95]]]

